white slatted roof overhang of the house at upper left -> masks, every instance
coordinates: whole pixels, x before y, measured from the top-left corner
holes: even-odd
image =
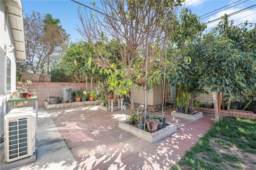
[[[16,61],[26,61],[23,10],[21,0],[6,0],[10,27],[16,50]]]

